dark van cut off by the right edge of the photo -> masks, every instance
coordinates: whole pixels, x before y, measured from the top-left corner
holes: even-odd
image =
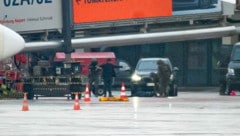
[[[232,90],[240,91],[240,43],[233,46],[226,74],[225,94]]]

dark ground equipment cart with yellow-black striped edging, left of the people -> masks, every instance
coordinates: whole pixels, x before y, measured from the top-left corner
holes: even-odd
[[[36,99],[41,96],[67,96],[75,98],[78,92],[79,98],[84,92],[82,85],[81,65],[79,62],[52,62],[39,60],[30,62],[28,74],[23,77],[23,88],[27,92],[27,98]],[[35,64],[34,64],[35,63]]]

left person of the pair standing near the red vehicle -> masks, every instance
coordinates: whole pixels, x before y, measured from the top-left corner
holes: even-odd
[[[89,78],[90,95],[92,92],[96,96],[97,95],[96,92],[98,90],[98,85],[99,85],[99,76],[101,72],[101,67],[98,66],[97,59],[92,59],[92,62],[88,66],[88,69],[89,69],[88,78]]]

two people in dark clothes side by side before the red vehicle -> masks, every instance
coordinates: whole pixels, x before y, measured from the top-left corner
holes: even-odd
[[[106,60],[106,63],[102,65],[98,65],[97,59],[92,59],[91,64],[89,65],[89,84],[90,84],[90,90],[96,91],[98,89],[98,85],[100,82],[100,79],[103,79],[103,90],[104,90],[104,97],[108,96],[113,97],[112,95],[112,84],[113,84],[113,78],[116,77],[115,68],[122,68],[122,66],[114,65],[111,62],[111,58],[108,58]],[[93,84],[94,83],[94,84]],[[92,92],[96,95],[96,92]]]

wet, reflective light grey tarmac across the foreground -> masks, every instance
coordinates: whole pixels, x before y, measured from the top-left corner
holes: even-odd
[[[118,95],[118,92],[115,92]],[[240,95],[215,90],[181,91],[177,97],[130,97],[129,102],[65,97],[0,100],[2,136],[239,136]]]

